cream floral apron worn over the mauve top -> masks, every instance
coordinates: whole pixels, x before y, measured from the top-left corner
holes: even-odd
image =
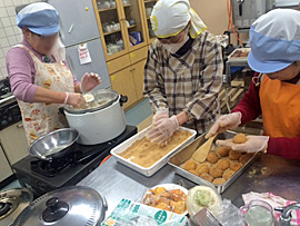
[[[62,61],[44,63],[23,45],[16,47],[23,48],[30,53],[37,71],[34,85],[53,91],[74,92],[73,76]],[[66,117],[59,115],[62,104],[24,102],[22,100],[18,100],[18,104],[29,144],[42,135],[68,127]]]

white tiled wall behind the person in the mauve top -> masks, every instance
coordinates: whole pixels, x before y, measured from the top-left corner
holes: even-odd
[[[0,80],[8,76],[6,56],[8,50],[22,40],[21,29],[16,24],[14,8],[38,0],[0,0]]]

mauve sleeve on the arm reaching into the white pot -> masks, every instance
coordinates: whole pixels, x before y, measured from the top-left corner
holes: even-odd
[[[34,63],[22,48],[12,48],[7,55],[7,70],[12,94],[19,100],[33,102],[38,86],[34,85]]]

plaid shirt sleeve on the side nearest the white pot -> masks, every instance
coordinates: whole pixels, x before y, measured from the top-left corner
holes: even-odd
[[[153,112],[159,108],[168,108],[167,96],[164,91],[163,77],[159,70],[157,60],[158,55],[150,48],[144,66],[143,95],[149,97]]]

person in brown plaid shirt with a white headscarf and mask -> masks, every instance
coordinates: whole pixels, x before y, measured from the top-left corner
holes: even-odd
[[[144,67],[144,95],[154,112],[147,136],[166,143],[181,125],[203,134],[220,114],[221,46],[188,0],[160,0],[151,23],[158,39]]]

